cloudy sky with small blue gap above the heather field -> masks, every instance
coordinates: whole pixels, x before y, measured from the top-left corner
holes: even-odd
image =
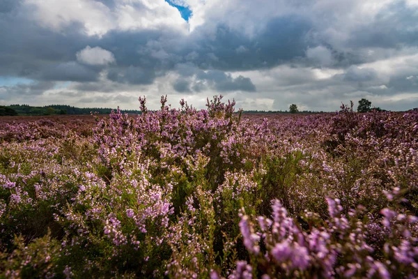
[[[0,105],[418,107],[418,0],[1,0]]]

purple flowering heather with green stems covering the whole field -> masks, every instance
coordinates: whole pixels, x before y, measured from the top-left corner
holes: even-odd
[[[0,278],[415,278],[418,112],[215,97],[0,127]]]

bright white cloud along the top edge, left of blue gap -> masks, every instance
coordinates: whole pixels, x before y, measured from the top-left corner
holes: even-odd
[[[164,0],[115,0],[114,9],[92,0],[24,0],[40,24],[55,31],[81,23],[88,36],[111,30],[171,29],[187,32],[188,24],[178,10]]]

